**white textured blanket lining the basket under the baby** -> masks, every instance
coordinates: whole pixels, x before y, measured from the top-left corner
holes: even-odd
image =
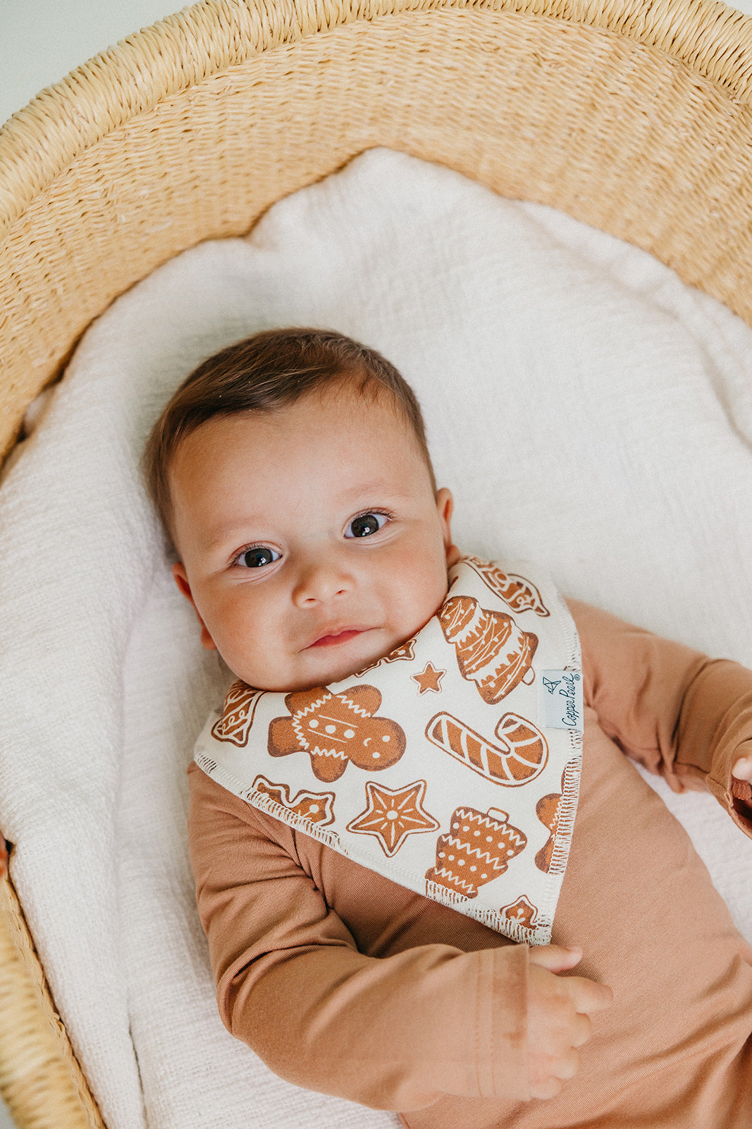
[[[752,665],[752,331],[649,256],[377,150],[154,272],[86,334],[0,491],[0,826],[110,1129],[397,1123],[224,1031],[187,860],[185,768],[229,679],[138,460],[200,360],[283,324],[402,370],[459,544]],[[660,790],[752,939],[752,843]]]

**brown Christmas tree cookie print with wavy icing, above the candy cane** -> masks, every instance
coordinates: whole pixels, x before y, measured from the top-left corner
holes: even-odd
[[[450,596],[439,622],[446,642],[454,645],[460,674],[475,682],[489,706],[536,677],[531,664],[538,636],[522,631],[505,612],[481,607],[472,596]]]

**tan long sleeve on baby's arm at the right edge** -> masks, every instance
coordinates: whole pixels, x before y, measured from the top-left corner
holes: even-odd
[[[752,789],[731,774],[752,754],[752,672],[567,603],[582,642],[585,700],[601,728],[675,791],[709,789],[752,835]]]

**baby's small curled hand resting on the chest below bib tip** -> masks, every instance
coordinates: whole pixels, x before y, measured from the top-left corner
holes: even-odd
[[[583,977],[557,977],[582,960],[578,948],[530,949],[528,978],[528,1078],[531,1097],[556,1097],[580,1069],[577,1047],[592,1033],[590,1016],[610,1007],[613,992]]]

